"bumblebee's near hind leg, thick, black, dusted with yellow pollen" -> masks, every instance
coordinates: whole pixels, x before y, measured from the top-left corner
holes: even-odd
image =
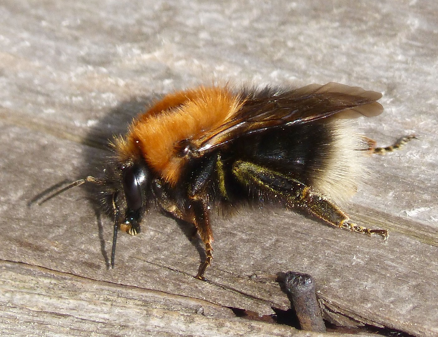
[[[334,202],[293,177],[241,160],[233,164],[233,174],[241,184],[273,196],[286,206],[305,209],[334,226],[368,235],[380,234],[385,241],[388,238],[387,230],[368,229],[351,223],[349,216]]]

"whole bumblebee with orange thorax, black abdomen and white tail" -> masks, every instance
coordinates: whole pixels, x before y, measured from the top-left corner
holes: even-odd
[[[191,223],[205,245],[196,277],[205,280],[212,255],[214,208],[242,201],[302,209],[336,227],[364,234],[340,204],[357,190],[373,153],[387,148],[357,133],[354,119],[381,114],[381,94],[338,83],[300,89],[233,89],[201,86],[165,96],[140,114],[124,136],[111,142],[114,155],[105,176],[88,176],[114,220],[111,265],[118,231],[140,233],[154,204]],[[56,194],[57,194],[56,193]]]

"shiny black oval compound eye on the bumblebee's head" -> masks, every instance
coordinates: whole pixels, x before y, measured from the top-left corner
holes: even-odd
[[[122,184],[127,208],[137,211],[143,205],[143,192],[148,184],[148,170],[145,165],[134,163],[122,170]]]

